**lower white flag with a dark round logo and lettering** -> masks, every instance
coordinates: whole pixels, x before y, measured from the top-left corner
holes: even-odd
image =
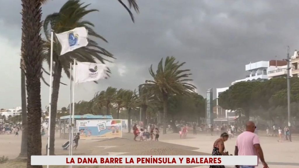
[[[76,65],[76,83],[97,81],[99,79],[104,79],[106,75],[106,64],[97,64],[90,62],[77,62]]]

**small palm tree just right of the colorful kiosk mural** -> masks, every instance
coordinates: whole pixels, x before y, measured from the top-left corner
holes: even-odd
[[[136,106],[136,96],[134,91],[125,90],[123,93],[123,107],[128,112],[128,132],[131,132],[131,110]]]

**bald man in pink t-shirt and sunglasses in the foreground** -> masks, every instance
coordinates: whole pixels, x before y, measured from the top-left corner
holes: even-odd
[[[268,168],[264,159],[263,150],[260,146],[259,137],[254,133],[257,127],[254,122],[248,121],[246,123],[246,131],[241,133],[237,138],[235,147],[235,155],[256,155],[260,158],[264,168]],[[258,161],[258,159],[257,159]],[[255,166],[237,166],[240,168],[254,168]]]

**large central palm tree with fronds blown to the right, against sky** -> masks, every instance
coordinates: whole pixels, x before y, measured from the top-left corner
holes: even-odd
[[[179,70],[181,66],[185,64],[175,62],[176,59],[171,56],[167,56],[164,66],[163,58],[158,64],[156,73],[152,69],[152,65],[149,68],[149,73],[153,77],[153,80],[146,80],[145,84],[149,89],[155,91],[157,96],[162,97],[163,102],[163,134],[166,134],[167,127],[167,107],[168,98],[174,94],[188,94],[195,91],[195,86],[187,83],[192,79],[186,79],[191,74],[186,74],[189,69]]]

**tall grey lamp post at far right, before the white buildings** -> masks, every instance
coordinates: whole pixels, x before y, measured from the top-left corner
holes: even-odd
[[[287,92],[288,92],[288,126],[289,126],[289,140],[292,141],[292,134],[291,134],[291,122],[290,122],[290,115],[291,115],[291,107],[290,107],[290,104],[291,104],[291,86],[290,86],[290,48],[288,46],[288,52],[286,54],[286,59],[288,61],[288,64],[287,64]]]

